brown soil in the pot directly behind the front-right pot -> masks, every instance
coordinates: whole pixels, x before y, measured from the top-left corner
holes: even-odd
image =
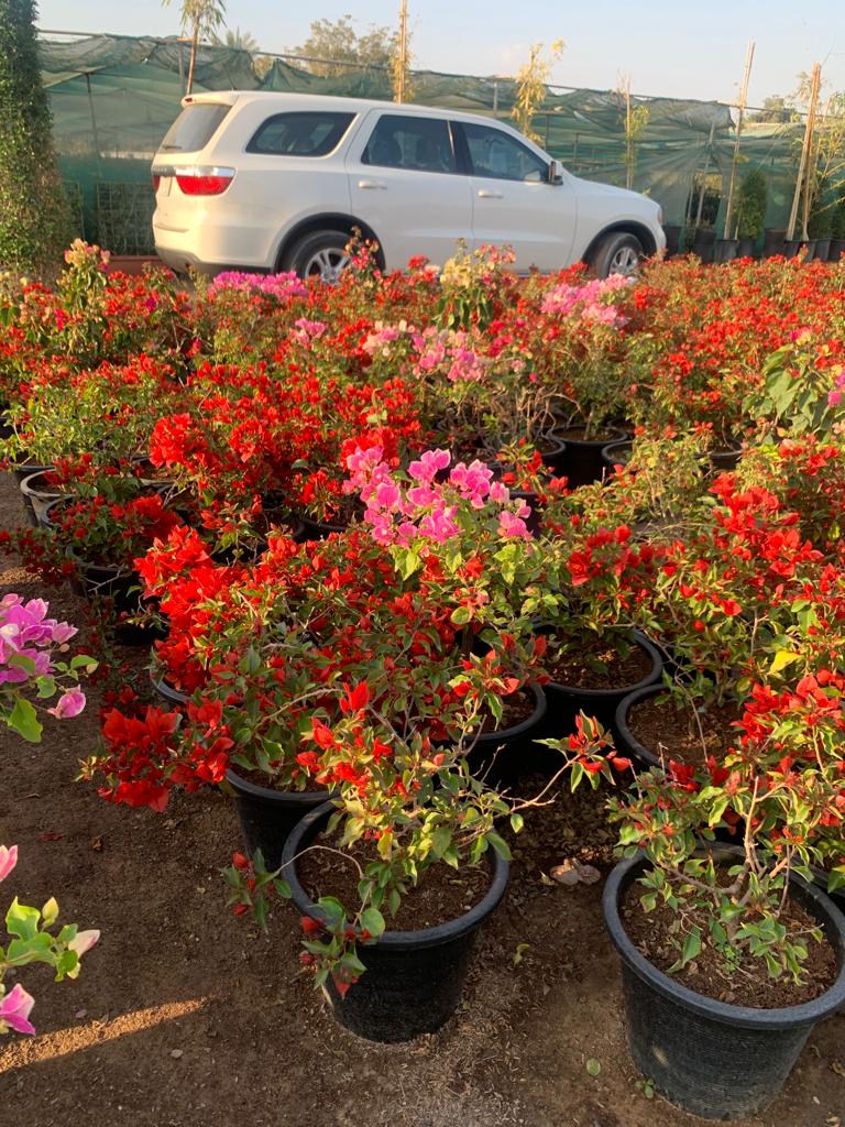
[[[692,766],[709,755],[719,758],[736,744],[738,733],[731,725],[741,711],[736,702],[726,701],[696,712],[692,704],[678,707],[658,694],[634,704],[628,713],[628,728],[658,757],[662,754],[667,762],[675,760]]]

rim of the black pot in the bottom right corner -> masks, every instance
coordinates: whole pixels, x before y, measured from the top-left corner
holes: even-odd
[[[712,852],[715,854],[731,854],[739,851],[736,846],[721,845],[712,850]],[[806,880],[802,880],[797,875],[791,876],[790,880],[801,890],[801,899],[809,902],[806,906],[810,908],[824,926],[827,933],[827,941],[836,951],[839,964],[836,980],[824,994],[811,999],[809,1002],[802,1002],[800,1005],[763,1010],[755,1006],[733,1005],[730,1002],[719,1002],[715,999],[708,997],[705,994],[699,994],[690,990],[688,986],[682,985],[664,970],[659,970],[640,953],[631,939],[629,939],[619,914],[621,894],[635,880],[640,870],[647,864],[648,859],[646,853],[639,851],[633,857],[626,858],[614,866],[602,894],[602,911],[611,942],[616,948],[622,960],[640,979],[657,991],[658,994],[710,1021],[739,1026],[744,1029],[764,1030],[815,1024],[828,1014],[834,1013],[845,1003],[845,916],[843,916],[825,893],[812,885],[808,885]]]

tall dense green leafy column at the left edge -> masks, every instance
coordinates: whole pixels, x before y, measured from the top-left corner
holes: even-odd
[[[38,66],[34,0],[0,0],[0,269],[56,269],[72,238]]]

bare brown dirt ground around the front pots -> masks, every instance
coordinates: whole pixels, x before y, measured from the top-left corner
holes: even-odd
[[[21,518],[14,482],[0,479],[0,525]],[[0,593],[9,589],[42,593],[0,560]],[[81,620],[69,592],[46,594],[56,616]],[[0,843],[20,848],[0,903],[53,894],[62,919],[103,932],[77,982],[25,971],[38,1035],[0,1047],[2,1127],[701,1121],[647,1099],[628,1057],[601,884],[549,887],[541,877],[571,857],[607,871],[601,799],[564,793],[526,825],[454,1019],[409,1045],[371,1045],[337,1027],[299,973],[292,908],[281,906],[268,938],[225,911],[217,873],[239,840],[223,796],[177,797],[155,815],[74,782],[96,745],[97,707],[95,692],[82,717],[53,724],[38,747],[0,735]],[[746,1127],[843,1127],[843,1064],[837,1015],[810,1038],[774,1107]]]

